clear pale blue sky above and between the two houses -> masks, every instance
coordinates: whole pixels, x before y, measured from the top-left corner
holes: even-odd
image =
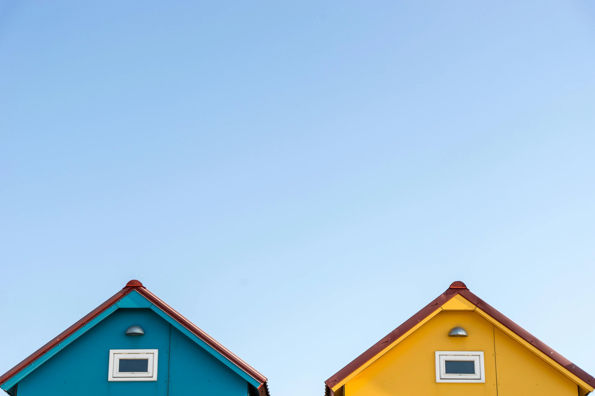
[[[455,280],[595,374],[595,6],[0,0],[0,372],[131,278],[323,381]]]

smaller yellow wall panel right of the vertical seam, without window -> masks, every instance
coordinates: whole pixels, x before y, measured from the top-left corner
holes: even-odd
[[[577,396],[577,384],[499,329],[494,330],[498,396]]]

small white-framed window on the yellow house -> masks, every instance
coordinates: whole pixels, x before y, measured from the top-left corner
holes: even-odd
[[[436,382],[486,382],[483,351],[436,351]]]

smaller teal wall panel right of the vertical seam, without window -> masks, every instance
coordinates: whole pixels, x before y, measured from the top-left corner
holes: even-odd
[[[169,396],[187,395],[247,396],[248,382],[172,327]]]

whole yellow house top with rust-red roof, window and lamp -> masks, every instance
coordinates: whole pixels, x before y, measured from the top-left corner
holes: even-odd
[[[325,396],[584,396],[595,378],[457,281],[325,384]]]

